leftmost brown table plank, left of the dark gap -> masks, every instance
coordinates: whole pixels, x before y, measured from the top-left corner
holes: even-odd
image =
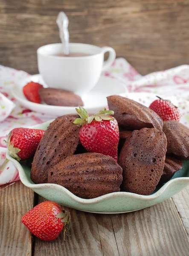
[[[20,181],[5,186],[0,187],[0,256],[30,256],[31,234],[21,217],[33,207],[33,192]]]

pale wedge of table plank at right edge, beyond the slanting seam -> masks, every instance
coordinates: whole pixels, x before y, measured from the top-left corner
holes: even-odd
[[[189,236],[189,186],[174,195],[172,200]]]

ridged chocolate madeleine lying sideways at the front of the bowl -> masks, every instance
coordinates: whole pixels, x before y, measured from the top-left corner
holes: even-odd
[[[64,186],[80,198],[96,198],[120,191],[122,168],[110,156],[76,154],[49,169],[48,183]]]

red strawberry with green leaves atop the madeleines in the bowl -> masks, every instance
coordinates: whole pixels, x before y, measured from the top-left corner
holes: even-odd
[[[117,148],[119,142],[119,128],[113,111],[102,110],[90,116],[84,108],[76,108],[81,118],[74,123],[82,125],[79,139],[84,148],[89,152],[109,155],[117,160]]]

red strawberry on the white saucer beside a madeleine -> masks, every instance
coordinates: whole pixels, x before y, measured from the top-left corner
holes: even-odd
[[[29,101],[41,103],[41,98],[39,95],[40,88],[43,88],[43,85],[35,82],[29,82],[23,87],[23,94]]]

